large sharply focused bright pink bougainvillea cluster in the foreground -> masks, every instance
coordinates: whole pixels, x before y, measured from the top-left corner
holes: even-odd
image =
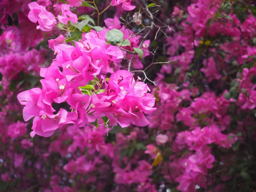
[[[105,43],[106,31],[89,32],[84,41],[75,41],[76,47],[60,44],[54,47],[56,59],[48,68],[41,68],[42,89],[33,88],[17,95],[23,108],[25,121],[33,119],[32,133],[49,137],[65,124],[79,127],[107,116],[111,125],[119,123],[127,127],[148,125],[144,113],[155,110],[154,96],[147,93],[146,84],[134,80],[133,74],[125,70],[113,73],[109,62],[123,58],[122,51]],[[62,71],[61,71],[61,70]],[[82,88],[101,72],[112,73],[107,81],[101,76],[98,91],[90,96],[82,93]],[[93,83],[93,82],[92,82]],[[94,86],[94,85],[93,85]],[[105,90],[100,92],[100,87]],[[100,92],[100,93],[98,93]],[[55,111],[52,103],[67,102],[71,111]]]

